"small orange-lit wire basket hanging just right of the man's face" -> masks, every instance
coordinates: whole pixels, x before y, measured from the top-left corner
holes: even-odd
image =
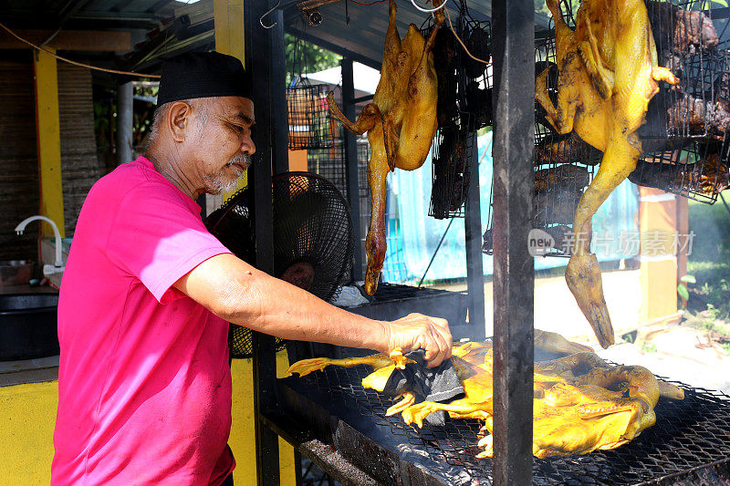
[[[299,77],[287,88],[289,150],[328,149],[337,138],[338,125],[329,113],[328,85],[312,84]]]

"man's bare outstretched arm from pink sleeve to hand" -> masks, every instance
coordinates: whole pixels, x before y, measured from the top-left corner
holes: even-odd
[[[403,352],[422,347],[430,366],[451,357],[452,336],[444,319],[412,314],[382,322],[350,314],[229,253],[206,260],[174,286],[215,315],[269,335],[386,355],[396,347]]]

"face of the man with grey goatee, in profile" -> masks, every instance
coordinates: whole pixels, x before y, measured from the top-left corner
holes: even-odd
[[[198,110],[191,129],[193,156],[205,192],[232,191],[255,152],[251,130],[254,126],[254,102],[248,98],[203,98],[207,105]]]

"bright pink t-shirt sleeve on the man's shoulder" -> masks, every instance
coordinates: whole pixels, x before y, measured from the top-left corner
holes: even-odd
[[[120,202],[110,226],[110,260],[139,278],[160,302],[179,294],[172,284],[193,268],[231,253],[208,233],[191,206],[172,187],[143,184]]]

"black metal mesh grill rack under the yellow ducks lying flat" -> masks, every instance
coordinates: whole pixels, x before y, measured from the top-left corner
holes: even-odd
[[[369,447],[366,438],[374,441],[373,447],[381,449],[377,454],[353,454],[347,459],[383,483],[391,483],[397,475],[402,478],[405,471],[411,476],[410,484],[492,483],[492,461],[475,458],[479,421],[446,419],[443,427],[414,429],[399,416],[385,416],[391,399],[362,388],[361,379],[368,374],[370,367],[365,366],[328,367],[307,377],[279,380],[290,407],[287,413],[315,419],[314,428],[319,428],[323,440],[333,432],[328,427],[343,420],[362,436],[355,449]],[[673,478],[673,484],[681,480],[695,484],[698,478],[721,484],[713,467],[730,460],[730,398],[674,383],[684,389],[685,398],[660,399],[656,425],[641,436],[615,450],[536,459],[534,484],[647,484],[668,478]],[[339,443],[337,449],[351,450],[351,446]],[[416,467],[404,467],[403,462]]]

